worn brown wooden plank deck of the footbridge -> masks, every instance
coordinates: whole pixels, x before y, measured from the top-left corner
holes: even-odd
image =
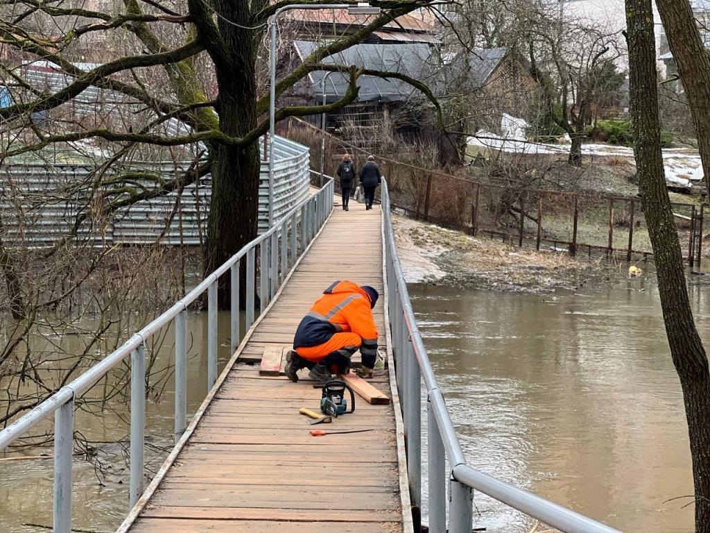
[[[300,407],[320,411],[307,371],[294,384],[259,375],[254,357],[288,345],[300,318],[332,281],[383,294],[381,217],[337,206],[240,354],[173,465],[131,527],[134,533],[401,532],[403,505],[393,403],[356,397],[354,414],[308,426]],[[384,298],[375,308],[384,335]],[[250,364],[251,363],[251,364]],[[225,376],[225,374],[223,374]],[[391,397],[388,374],[373,384]],[[396,403],[395,403],[396,405]],[[310,436],[310,429],[373,429]],[[406,496],[405,501],[408,501]]]

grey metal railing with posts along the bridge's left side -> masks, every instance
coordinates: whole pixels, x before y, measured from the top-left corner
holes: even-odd
[[[143,449],[145,438],[145,343],[155,332],[175,321],[175,441],[185,431],[187,419],[187,307],[207,291],[207,392],[217,379],[217,283],[230,272],[230,336],[231,353],[239,346],[239,269],[246,257],[246,330],[254,323],[256,294],[256,247],[261,258],[260,311],[266,309],[278,286],[293,269],[299,254],[308,244],[333,208],[334,181],[327,178],[322,188],[288,211],[270,230],[246,244],[217,270],[209,274],[195,289],[181,298],[158,318],[134,333],[118,350],[45,399],[0,431],[0,451],[40,424],[50,414],[55,415],[54,436],[54,511],[53,531],[71,532],[72,452],[75,398],[87,392],[111,368],[131,355],[131,461],[129,503],[131,507],[143,493]],[[299,223],[300,220],[300,223]],[[300,237],[298,237],[300,232]],[[298,246],[300,241],[300,247]],[[280,251],[280,253],[279,253]],[[279,269],[280,264],[280,269]],[[280,273],[280,276],[279,276]]]

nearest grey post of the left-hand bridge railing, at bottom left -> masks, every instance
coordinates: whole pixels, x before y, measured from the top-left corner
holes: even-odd
[[[54,533],[72,532],[74,399],[54,411]]]

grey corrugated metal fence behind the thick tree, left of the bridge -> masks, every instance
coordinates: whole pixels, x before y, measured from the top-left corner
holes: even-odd
[[[308,195],[310,155],[306,146],[283,137],[276,140],[274,219],[278,220]],[[159,171],[166,179],[175,176],[173,163],[146,163],[136,168]],[[185,170],[187,164],[178,167],[178,171]],[[84,182],[92,171],[92,166],[70,164],[4,166],[0,172],[0,219],[4,241],[45,247],[68,235],[86,203],[82,200],[87,190]],[[125,185],[138,188],[150,183]],[[201,244],[207,233],[211,185],[212,177],[207,175],[199,184],[185,188],[180,198],[180,215],[176,212],[172,220],[170,217],[176,210],[178,193],[138,202],[116,212],[108,220],[89,216],[80,225],[77,239],[97,246],[151,244],[158,239],[163,244],[180,244],[181,241]],[[235,201],[234,207],[238,209],[239,203]],[[84,208],[84,211],[90,213],[91,207]],[[263,232],[268,226],[268,165],[264,161],[261,163],[258,214],[259,231]]]

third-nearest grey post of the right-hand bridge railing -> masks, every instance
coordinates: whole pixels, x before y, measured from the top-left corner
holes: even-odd
[[[422,380],[412,340],[407,340],[407,471],[412,505],[422,506]]]

